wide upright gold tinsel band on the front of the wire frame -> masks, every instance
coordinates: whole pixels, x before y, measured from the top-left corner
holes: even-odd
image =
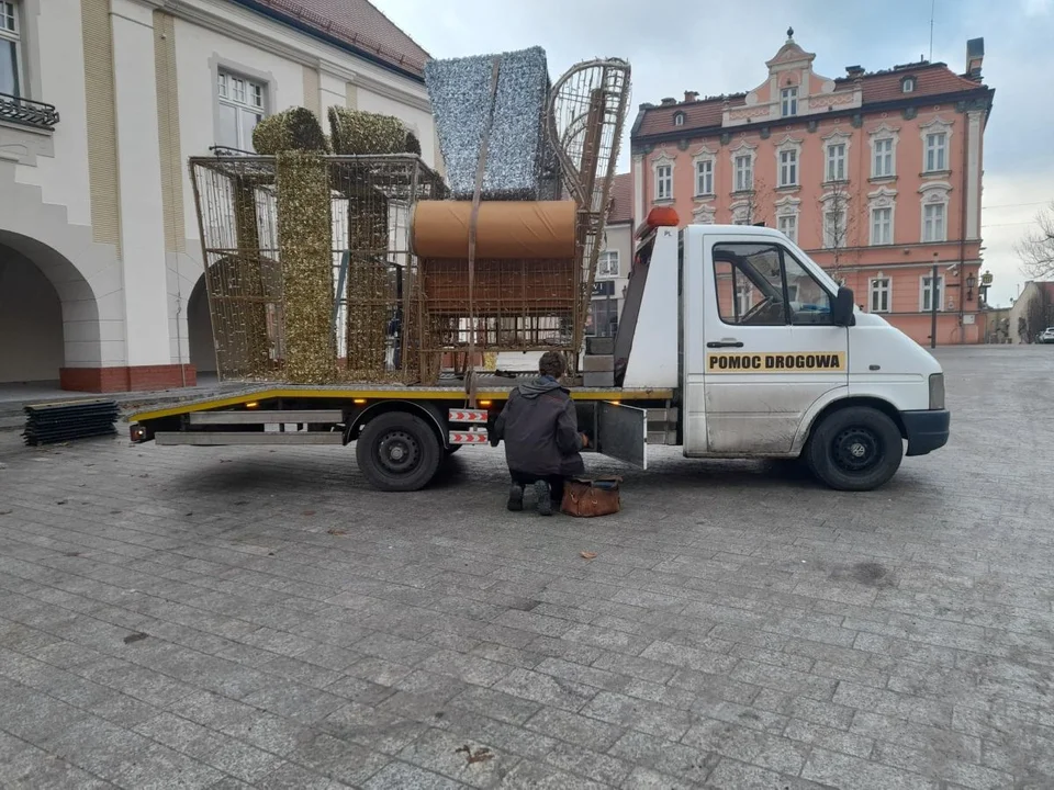
[[[326,384],[336,376],[327,163],[318,154],[279,151],[276,171],[285,379],[296,384]]]

